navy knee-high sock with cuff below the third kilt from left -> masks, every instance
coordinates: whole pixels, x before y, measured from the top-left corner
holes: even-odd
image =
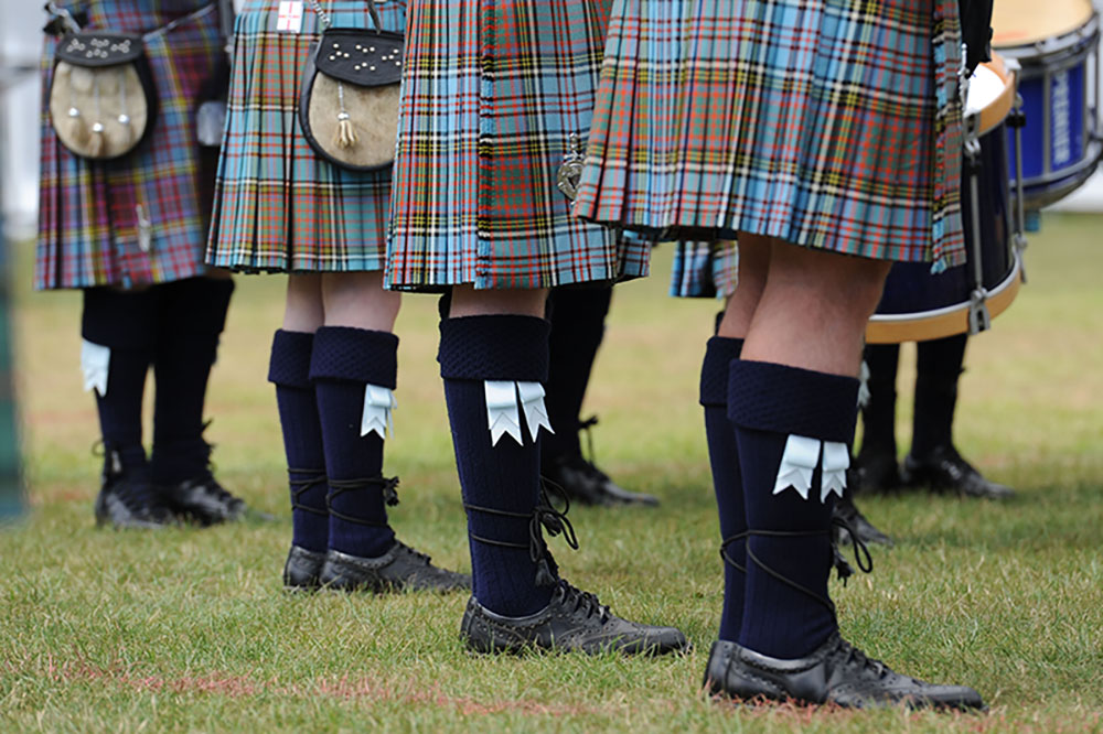
[[[438,359],[468,511],[474,596],[507,616],[533,614],[552,598],[548,580],[537,583],[539,568],[529,550],[529,522],[539,503],[539,442],[532,441],[518,411],[523,443],[503,435],[491,444],[483,381],[546,380],[548,328],[543,319],[508,315],[440,324]]]

